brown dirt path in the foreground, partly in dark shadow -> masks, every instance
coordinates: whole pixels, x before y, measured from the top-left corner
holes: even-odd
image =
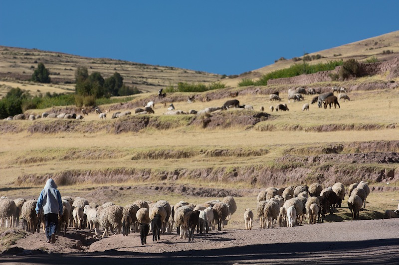
[[[347,221],[293,228],[251,231],[225,228],[195,234],[194,242],[176,234],[142,246],[138,234],[93,240],[89,233],[72,231],[54,245],[44,234],[20,239],[3,253],[0,263],[18,264],[397,264],[399,219]],[[22,251],[23,250],[23,251]],[[14,256],[15,255],[15,256]],[[101,260],[99,260],[101,259]]]

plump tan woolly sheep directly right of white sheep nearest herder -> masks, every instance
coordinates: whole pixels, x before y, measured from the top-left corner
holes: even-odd
[[[102,237],[107,237],[109,232],[108,229],[111,229],[111,232],[113,232],[113,229],[116,229],[116,234],[121,233],[121,227],[122,227],[122,211],[123,207],[119,205],[112,205],[106,208],[101,209],[98,212],[98,221],[100,222],[100,225],[104,228],[104,233]]]

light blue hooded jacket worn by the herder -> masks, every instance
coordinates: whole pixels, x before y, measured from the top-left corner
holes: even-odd
[[[42,206],[44,214],[59,213],[62,215],[61,194],[59,193],[57,185],[52,178],[47,179],[43,190],[40,192],[36,203],[36,213],[39,213]]]

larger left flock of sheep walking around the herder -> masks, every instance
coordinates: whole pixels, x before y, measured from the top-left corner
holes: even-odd
[[[62,197],[63,214],[58,218],[59,233],[66,234],[68,227],[87,228],[93,237],[108,237],[110,233],[127,236],[131,232],[140,232],[141,244],[147,244],[147,235],[153,234],[153,241],[160,240],[160,234],[172,232],[175,228],[180,238],[194,240],[194,232],[209,230],[220,231],[223,223],[236,211],[235,200],[226,196],[222,200],[207,201],[194,205],[180,201],[171,205],[166,200],[151,202],[136,200],[125,207],[107,202],[102,205],[89,203],[86,199]],[[27,232],[39,232],[44,217],[42,212],[36,216],[35,199],[0,198],[0,226],[18,227],[22,218],[22,229]],[[100,232],[100,227],[103,233]]]

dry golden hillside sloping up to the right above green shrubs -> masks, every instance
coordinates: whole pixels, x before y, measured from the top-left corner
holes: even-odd
[[[308,55],[322,56],[320,59],[307,62],[309,64],[326,63],[327,61],[333,60],[347,60],[350,58],[355,58],[360,62],[365,62],[367,58],[372,56],[375,56],[379,61],[391,60],[399,55],[399,31],[394,31],[327,50],[309,53]],[[303,58],[303,55],[299,54],[298,57]],[[277,59],[278,58],[276,58],[276,60]],[[258,79],[264,74],[288,68],[296,63],[302,63],[302,61],[295,62],[292,58],[286,58],[286,60],[277,61],[274,64],[249,71],[234,79],[226,79],[223,82],[226,83],[227,86],[235,87],[243,78]]]

